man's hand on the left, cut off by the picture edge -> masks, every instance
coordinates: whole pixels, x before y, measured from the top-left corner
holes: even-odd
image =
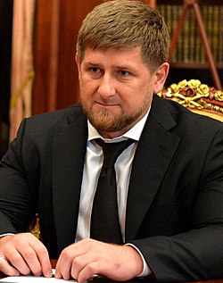
[[[0,271],[8,276],[43,274],[52,276],[52,266],[45,246],[31,233],[0,238]]]

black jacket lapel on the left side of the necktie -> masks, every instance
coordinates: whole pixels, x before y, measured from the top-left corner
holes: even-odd
[[[86,146],[87,120],[84,115],[54,132],[52,187],[59,251],[75,241]]]

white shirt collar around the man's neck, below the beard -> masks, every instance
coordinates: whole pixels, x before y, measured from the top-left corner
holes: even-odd
[[[128,138],[132,138],[136,141],[139,141],[142,131],[145,127],[145,121],[147,120],[147,117],[149,115],[150,112],[150,108],[149,110],[146,112],[145,116],[136,123],[136,125],[129,129],[128,132],[126,132],[125,134],[121,135],[120,137],[114,137],[114,138],[104,138],[102,137],[98,131],[92,126],[92,124],[90,123],[90,121],[87,120],[87,127],[88,127],[88,138],[87,141],[91,141],[95,138],[102,138],[103,141],[105,142],[120,142],[121,140],[124,139],[128,139]]]

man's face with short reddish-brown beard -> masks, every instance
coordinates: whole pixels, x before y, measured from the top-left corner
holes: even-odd
[[[156,74],[141,48],[87,48],[79,72],[80,97],[88,120],[103,137],[119,137],[141,120],[153,98]]]

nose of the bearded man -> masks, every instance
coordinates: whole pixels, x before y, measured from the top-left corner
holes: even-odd
[[[100,79],[98,94],[103,98],[108,98],[110,96],[114,96],[116,93],[114,80],[112,79],[110,74],[104,74]]]

